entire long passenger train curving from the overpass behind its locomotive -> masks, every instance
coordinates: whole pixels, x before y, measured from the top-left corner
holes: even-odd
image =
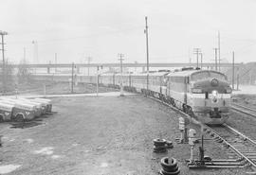
[[[70,81],[70,76],[37,75],[36,79]],[[181,68],[175,71],[97,76],[76,75],[78,83],[98,83],[146,96],[154,96],[209,125],[226,123],[232,89],[225,74],[214,70]]]

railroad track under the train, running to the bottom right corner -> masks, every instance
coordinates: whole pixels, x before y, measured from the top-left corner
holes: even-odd
[[[203,127],[207,134],[210,134],[213,140],[229,149],[229,160],[221,160],[223,167],[247,167],[250,166],[256,171],[256,140],[252,140],[240,131],[235,130],[227,124],[221,126],[207,126],[193,119],[189,114],[174,108],[171,104],[165,103],[160,99],[148,96],[164,105],[172,108],[174,111],[190,118],[193,123]],[[228,165],[228,166],[227,166]],[[254,173],[254,172],[253,172]]]

